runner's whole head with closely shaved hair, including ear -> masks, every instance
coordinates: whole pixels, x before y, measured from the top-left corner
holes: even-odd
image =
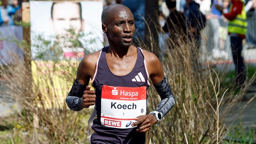
[[[110,4],[101,15],[102,31],[113,47],[128,48],[133,42],[135,23],[132,11],[122,4]]]

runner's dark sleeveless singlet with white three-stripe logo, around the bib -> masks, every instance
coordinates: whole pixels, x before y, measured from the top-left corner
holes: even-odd
[[[136,131],[137,127],[119,129],[101,125],[102,85],[116,87],[146,86],[146,99],[147,89],[150,86],[148,72],[146,70],[146,62],[141,48],[137,47],[137,61],[135,66],[133,67],[133,70],[125,76],[115,76],[110,72],[105,57],[106,50],[107,47],[104,47],[100,51],[100,56],[96,63],[96,72],[92,79],[92,86],[95,88],[96,94],[96,104],[88,121],[88,141],[90,144],[150,144],[150,130],[146,133],[139,133]],[[131,112],[133,112],[132,108],[130,109]]]

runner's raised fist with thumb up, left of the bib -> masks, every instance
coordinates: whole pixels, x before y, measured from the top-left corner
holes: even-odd
[[[95,105],[96,95],[94,90],[90,90],[91,86],[87,85],[86,90],[83,92],[82,100],[80,101],[80,108],[89,108],[91,105]]]

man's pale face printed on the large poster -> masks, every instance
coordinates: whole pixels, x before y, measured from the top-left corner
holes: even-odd
[[[67,31],[74,30],[78,35],[84,29],[84,20],[81,20],[80,7],[73,2],[56,3],[52,11],[52,24],[56,36],[70,37]]]

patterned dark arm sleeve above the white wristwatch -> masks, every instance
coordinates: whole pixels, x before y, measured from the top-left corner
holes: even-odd
[[[158,84],[155,84],[154,86],[155,90],[161,98],[161,101],[155,108],[155,111],[160,112],[162,117],[164,117],[167,112],[169,112],[174,107],[174,94],[165,76],[162,81],[160,81]]]

